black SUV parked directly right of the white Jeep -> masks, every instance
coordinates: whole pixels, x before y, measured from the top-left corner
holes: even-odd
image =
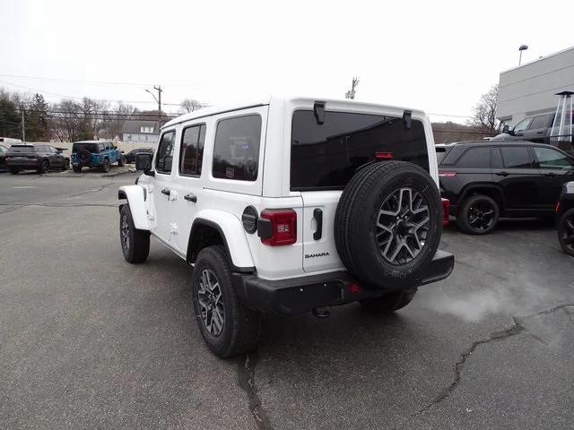
[[[561,186],[574,180],[574,158],[534,142],[437,145],[440,193],[466,233],[489,233],[499,217],[552,215]]]

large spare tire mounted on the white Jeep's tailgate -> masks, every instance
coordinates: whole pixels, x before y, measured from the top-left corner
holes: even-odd
[[[424,169],[406,161],[361,168],[335,213],[339,257],[368,288],[416,288],[441,232],[438,187]]]

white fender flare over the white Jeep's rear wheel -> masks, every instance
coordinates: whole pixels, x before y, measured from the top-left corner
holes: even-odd
[[[198,211],[189,232],[189,245],[192,244],[194,234],[201,226],[215,228],[219,231],[225,251],[230,257],[233,271],[241,273],[252,273],[255,271],[255,263],[253,262],[245,230],[236,216],[229,212],[215,209]],[[190,249],[189,245],[187,245],[187,249]],[[190,258],[191,256],[187,255],[187,262],[190,262]]]

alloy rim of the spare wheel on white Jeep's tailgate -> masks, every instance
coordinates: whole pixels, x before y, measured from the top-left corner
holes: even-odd
[[[391,264],[413,261],[426,242],[430,223],[429,203],[422,193],[409,187],[395,190],[378,211],[381,256]]]

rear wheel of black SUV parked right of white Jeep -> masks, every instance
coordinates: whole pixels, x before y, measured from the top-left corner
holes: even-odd
[[[486,235],[499,221],[500,208],[488,195],[474,194],[463,202],[457,215],[458,227],[469,235]]]

